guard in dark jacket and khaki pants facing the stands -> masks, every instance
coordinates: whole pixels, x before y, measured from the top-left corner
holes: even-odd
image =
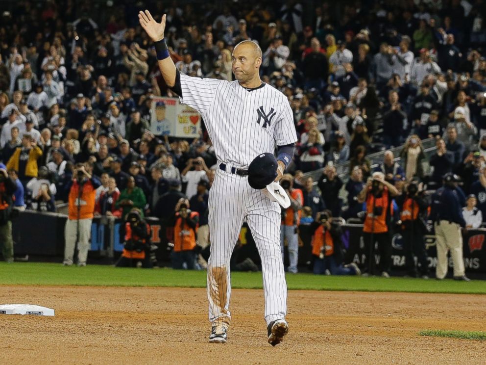
[[[456,191],[461,179],[453,173],[443,176],[444,185],[432,196],[430,220],[434,221],[436,231],[437,267],[436,278],[444,279],[447,275],[447,252],[451,251],[454,264],[454,279],[470,281],[464,275],[462,260],[461,227],[466,226],[462,217],[461,204]]]

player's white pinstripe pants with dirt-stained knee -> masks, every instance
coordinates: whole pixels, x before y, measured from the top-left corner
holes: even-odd
[[[211,256],[207,294],[212,323],[229,324],[231,320],[229,264],[244,218],[262,259],[265,320],[269,324],[283,319],[287,312],[287,284],[280,253],[280,206],[262,191],[251,188],[247,180],[218,168],[209,192]]]

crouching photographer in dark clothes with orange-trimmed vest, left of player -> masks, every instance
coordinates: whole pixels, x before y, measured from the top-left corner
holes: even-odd
[[[149,250],[150,226],[142,218],[140,209],[133,208],[126,215],[123,252],[115,266],[152,268]]]

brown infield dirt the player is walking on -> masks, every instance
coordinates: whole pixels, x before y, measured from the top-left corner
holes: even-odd
[[[205,289],[0,287],[1,364],[484,364],[485,341],[421,337],[485,330],[486,296],[289,291],[290,332],[271,347],[263,290],[234,290],[228,343],[208,343]]]

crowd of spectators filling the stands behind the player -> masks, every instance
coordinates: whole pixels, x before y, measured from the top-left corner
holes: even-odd
[[[150,132],[152,98],[176,95],[138,24],[139,5],[0,4],[0,158],[16,182],[14,205],[55,211],[56,202],[69,201],[73,176],[82,169],[99,181],[95,215],[123,219],[136,208],[142,217],[160,218],[174,251],[197,252],[204,265],[199,253],[209,245],[208,191],[217,159],[204,128],[194,140]],[[234,46],[242,40],[260,45],[261,77],[289,98],[299,137],[292,175],[284,179],[298,204],[283,212],[283,227],[301,227],[309,257],[333,255],[326,251],[332,217],[363,217],[369,201],[360,195],[371,188],[370,177],[394,192],[390,231],[405,224],[411,185],[426,201],[424,191],[442,186],[451,172],[462,178],[457,190],[467,226],[482,224],[484,1],[147,1],[145,7],[158,19],[167,14],[170,57],[190,76],[232,80]],[[427,138],[436,139],[432,156],[422,147]],[[371,169],[369,153],[400,146],[398,162],[387,151]],[[344,183],[335,166],[347,161]],[[316,181],[304,177],[322,168]],[[174,232],[191,230],[177,242]],[[335,228],[332,236],[339,237]],[[295,237],[285,238],[295,272]],[[320,257],[323,250],[329,255]],[[334,251],[340,251],[337,243]],[[195,256],[178,256],[174,265],[193,267]],[[339,256],[332,269],[322,262],[315,272],[359,273]],[[388,275],[389,268],[382,269]]]

